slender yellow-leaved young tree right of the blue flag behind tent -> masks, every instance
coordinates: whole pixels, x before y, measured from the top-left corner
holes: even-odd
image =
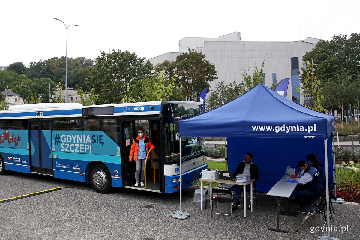
[[[302,83],[302,93],[306,98],[306,102],[304,103],[304,106],[310,109],[313,109],[318,112],[326,112],[323,105],[321,104],[324,102],[324,95],[321,94],[323,91],[323,87],[321,87],[321,81],[314,76],[315,68],[311,66],[309,63],[303,63],[303,65],[306,64],[305,78],[301,81]],[[313,64],[311,64],[313,65]],[[296,89],[296,91],[300,92],[300,87]]]

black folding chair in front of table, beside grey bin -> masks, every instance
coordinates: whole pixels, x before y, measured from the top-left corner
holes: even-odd
[[[210,221],[212,221],[212,214],[221,214],[221,215],[227,215],[230,216],[230,224],[233,221],[233,207],[235,208],[235,204],[233,202],[233,193],[231,193],[231,191],[229,189],[212,189],[212,194],[211,194],[211,200],[212,200],[212,205],[211,205],[211,218]],[[226,213],[219,213],[219,210],[217,209],[217,203],[227,203],[229,204],[229,211],[230,214],[226,214]],[[216,213],[213,212],[213,206],[215,204],[216,207]],[[236,212],[235,212],[236,214]],[[236,215],[237,216],[237,215]]]

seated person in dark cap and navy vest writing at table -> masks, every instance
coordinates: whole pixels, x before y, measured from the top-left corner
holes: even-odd
[[[320,173],[316,168],[311,167],[304,160],[300,160],[296,168],[301,170],[300,176],[292,175],[291,178],[300,184],[300,187],[295,192],[295,199],[301,208],[307,200],[321,197],[324,187]],[[298,212],[305,213],[301,210],[298,210]]]

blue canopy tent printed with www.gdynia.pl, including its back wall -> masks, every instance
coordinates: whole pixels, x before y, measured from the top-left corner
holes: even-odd
[[[328,186],[333,131],[333,116],[294,103],[262,83],[216,109],[179,121],[180,136],[228,137],[230,171],[251,152],[260,174],[257,190],[264,192],[308,153],[325,164]]]

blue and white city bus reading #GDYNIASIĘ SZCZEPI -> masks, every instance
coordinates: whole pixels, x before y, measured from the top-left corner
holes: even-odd
[[[177,192],[180,141],[174,119],[201,111],[192,101],[10,106],[0,112],[0,175],[13,171],[87,182],[99,193],[112,187]],[[135,163],[129,162],[139,128],[156,147],[146,164],[145,187],[134,186]],[[181,137],[181,150],[186,188],[208,166],[204,138]]]

